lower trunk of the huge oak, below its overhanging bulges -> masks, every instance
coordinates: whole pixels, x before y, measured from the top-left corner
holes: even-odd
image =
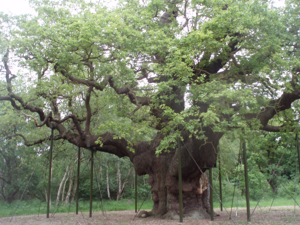
[[[166,157],[167,158],[167,157]],[[149,174],[154,206],[151,214],[165,219],[179,219],[179,184],[177,171],[166,163]],[[204,170],[203,170],[204,171]],[[175,176],[174,176],[175,175]],[[204,177],[204,179],[201,179]],[[202,180],[206,182],[201,182]],[[204,184],[204,185],[203,185]],[[205,173],[195,172],[182,177],[183,214],[185,218],[209,218],[209,189]]]

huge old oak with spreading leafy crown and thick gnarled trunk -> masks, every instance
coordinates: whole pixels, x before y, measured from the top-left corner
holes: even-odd
[[[194,160],[213,166],[232,129],[297,124],[296,0],[34,4],[36,16],[0,15],[6,137],[42,143],[53,124],[56,140],[129,157],[149,174],[149,215],[178,216],[178,137],[184,214],[204,218],[209,192]]]

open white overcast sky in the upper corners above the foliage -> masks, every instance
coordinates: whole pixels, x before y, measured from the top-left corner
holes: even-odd
[[[275,6],[282,6],[284,0],[275,0]],[[12,13],[20,15],[25,13],[33,13],[34,10],[30,8],[28,0],[1,0],[0,11],[5,13]]]

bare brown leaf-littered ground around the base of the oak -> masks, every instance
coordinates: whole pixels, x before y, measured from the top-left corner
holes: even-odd
[[[228,209],[227,209],[228,210]],[[229,209],[230,210],[230,209]],[[251,213],[253,209],[251,208]],[[247,212],[246,208],[239,208],[237,217],[235,216],[236,209],[232,209],[232,220],[229,220],[229,215],[225,210],[220,212],[220,209],[215,209],[214,221],[210,219],[206,220],[183,220],[183,223],[179,223],[177,220],[161,220],[157,218],[135,218],[134,211],[110,211],[107,212],[107,216],[104,216],[101,212],[95,212],[92,217],[89,217],[88,213],[76,215],[75,213],[61,213],[55,214],[53,217],[46,218],[46,215],[30,215],[30,216],[16,216],[0,218],[0,224],[3,225],[14,225],[14,224],[121,224],[121,225],[173,225],[173,224],[184,224],[184,225],[196,225],[196,224],[246,224],[247,223]],[[230,211],[229,211],[230,213]],[[134,221],[132,221],[134,219]],[[248,224],[300,224],[300,208],[296,207],[294,216],[293,206],[282,206],[269,208],[256,208],[251,222]]]

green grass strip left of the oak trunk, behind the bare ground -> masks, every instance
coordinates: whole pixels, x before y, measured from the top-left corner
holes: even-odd
[[[143,200],[138,201],[138,209],[140,208]],[[50,214],[53,212],[56,213],[67,213],[69,212],[75,212],[76,211],[76,202],[74,201],[71,205],[60,205],[58,204],[59,208],[56,207],[54,209],[55,202],[52,202],[52,207],[50,207]],[[0,217],[10,217],[13,215],[14,211],[16,210],[15,216],[20,215],[32,215],[32,214],[38,214],[39,207],[40,207],[40,201],[39,200],[28,200],[28,201],[21,201],[18,208],[18,201],[13,202],[11,204],[0,202]],[[122,210],[134,210],[135,209],[135,203],[134,199],[131,199],[129,201],[128,199],[122,199],[118,202],[116,201],[108,201],[104,200],[103,204],[106,211],[122,211]],[[93,211],[101,211],[102,207],[101,203],[99,204],[97,201],[93,201]],[[143,205],[142,209],[152,209],[153,207],[153,201],[151,199],[147,199]],[[16,209],[17,208],[17,209]],[[88,212],[89,211],[89,201],[80,201],[79,200],[79,213],[80,210],[82,212]],[[46,214],[47,212],[47,203],[41,202],[41,208],[40,208],[40,214]]]

